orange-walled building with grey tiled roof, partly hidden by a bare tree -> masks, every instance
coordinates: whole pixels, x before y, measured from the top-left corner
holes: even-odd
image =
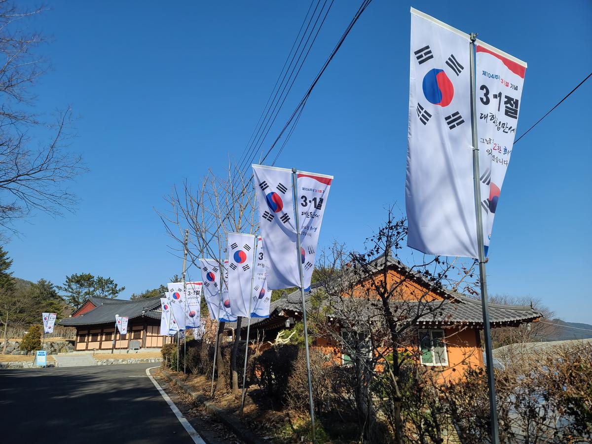
[[[421,275],[414,274],[405,265],[392,256],[384,256],[375,259],[375,266],[379,273],[386,266],[387,285],[405,279],[406,289],[404,298],[414,300],[414,295],[420,294],[424,298],[422,304],[423,313],[411,320],[416,331],[416,341],[413,355],[418,356],[422,365],[433,366],[440,371],[444,379],[455,379],[464,373],[468,367],[484,366],[483,348],[481,344],[481,330],[483,329],[481,301],[467,297],[458,292],[448,291],[445,288],[433,288],[433,284],[426,281]],[[311,286],[311,292],[305,295],[307,310],[310,310],[311,294],[323,291],[318,284]],[[428,291],[428,289],[430,289]],[[427,292],[427,295],[426,295]],[[427,297],[426,297],[427,296]],[[429,301],[427,304],[425,300]],[[433,309],[430,309],[430,304]],[[368,303],[368,314],[371,316],[375,310],[375,304]],[[396,308],[394,308],[396,310]],[[327,324],[336,332],[345,337],[348,334],[345,327],[348,314],[339,313],[339,310],[330,311],[327,316]],[[302,301],[300,290],[284,294],[281,298],[271,303],[268,318],[252,318],[250,323],[250,340],[259,338],[264,341],[274,342],[279,332],[293,326],[302,319]],[[491,327],[515,327],[523,323],[536,322],[540,319],[540,313],[533,307],[519,307],[513,305],[490,304]],[[236,323],[227,323],[226,327],[234,328]],[[241,336],[246,339],[246,322],[243,321]],[[286,335],[287,336],[287,335]],[[314,339],[313,347],[323,350],[326,356],[332,356],[335,361],[348,363],[349,356],[339,349],[332,340],[327,337]],[[403,350],[401,350],[403,351]]]

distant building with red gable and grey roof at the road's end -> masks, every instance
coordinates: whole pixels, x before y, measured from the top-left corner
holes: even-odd
[[[76,328],[75,350],[111,350],[115,316],[127,316],[127,334],[115,335],[115,349],[160,348],[160,297],[135,301],[90,297],[70,317],[58,322]]]

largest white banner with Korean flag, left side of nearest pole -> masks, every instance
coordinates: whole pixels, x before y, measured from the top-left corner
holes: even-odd
[[[407,245],[478,257],[471,134],[470,40],[411,8]]]

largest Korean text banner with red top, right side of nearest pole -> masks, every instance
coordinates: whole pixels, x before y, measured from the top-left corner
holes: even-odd
[[[477,136],[485,255],[516,137],[526,62],[477,40]]]

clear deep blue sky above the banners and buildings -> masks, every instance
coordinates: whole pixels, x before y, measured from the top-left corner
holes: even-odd
[[[334,3],[274,137],[360,3]],[[36,86],[36,106],[72,105],[80,117],[72,149],[90,172],[74,184],[76,214],[18,224],[22,236],[6,246],[15,275],[61,284],[91,272],[125,285],[128,297],[181,272],[154,208],[165,208],[174,184],[197,182],[229,153],[242,153],[308,5],[50,2],[33,23],[53,37],[43,47],[53,70]],[[404,208],[410,6],[526,60],[518,134],[592,71],[588,0],[374,0],[276,163],[335,176],[321,243],[359,249],[385,206]],[[538,297],[565,320],[585,323],[592,323],[591,102],[592,80],[514,147],[487,268],[491,294]]]

